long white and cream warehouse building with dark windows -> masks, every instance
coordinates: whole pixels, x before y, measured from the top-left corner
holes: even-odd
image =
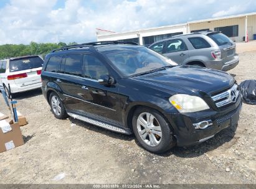
[[[96,29],[97,40],[125,40],[137,42],[140,45],[152,44],[173,35],[189,34],[202,30],[216,30],[230,37],[235,42],[256,39],[256,12],[235,16],[218,17],[201,21],[192,21],[185,24],[167,25],[149,29],[133,30],[116,33],[108,30]]]

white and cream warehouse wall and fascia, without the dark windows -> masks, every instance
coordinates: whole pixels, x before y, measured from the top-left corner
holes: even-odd
[[[207,19],[204,21],[188,22],[186,24],[168,25],[163,27],[154,27],[151,29],[141,29],[131,32],[123,32],[117,34],[104,34],[97,35],[97,40],[123,40],[139,38],[140,44],[143,44],[143,37],[152,35],[171,34],[176,32],[183,32],[188,34],[191,30],[210,29],[214,30],[215,27],[224,27],[229,25],[239,25],[239,33],[237,37],[230,37],[235,42],[243,41],[245,36],[245,15],[223,17],[219,19]],[[253,34],[256,34],[256,14],[250,13],[247,16],[247,30],[249,40],[253,39]]]

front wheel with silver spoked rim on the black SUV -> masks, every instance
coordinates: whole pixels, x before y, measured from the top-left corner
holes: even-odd
[[[149,152],[163,153],[176,145],[171,127],[158,111],[138,108],[133,114],[132,123],[136,139]]]

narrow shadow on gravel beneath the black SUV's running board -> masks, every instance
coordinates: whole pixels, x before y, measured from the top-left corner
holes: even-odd
[[[132,141],[133,139],[135,139],[135,136],[133,134],[127,135],[127,134],[121,134],[118,132],[110,131],[108,129],[104,129],[102,127],[98,127],[93,124],[89,124],[87,122],[83,122],[83,121],[80,121],[78,119],[74,119],[71,117],[69,118],[69,120],[70,120],[70,122],[72,122],[73,124],[76,124],[77,126],[83,127],[90,131],[99,132],[100,134],[104,134],[106,136],[109,136],[109,137],[112,137],[115,139],[121,139],[123,141]]]

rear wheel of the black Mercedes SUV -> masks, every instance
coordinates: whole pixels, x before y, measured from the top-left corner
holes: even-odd
[[[57,119],[65,119],[67,118],[67,113],[65,107],[62,104],[58,94],[52,92],[49,96],[50,108],[52,109],[52,113]]]

